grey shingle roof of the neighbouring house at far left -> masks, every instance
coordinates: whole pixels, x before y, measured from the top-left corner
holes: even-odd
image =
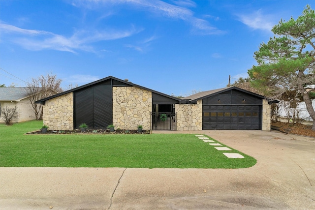
[[[0,101],[20,101],[27,97],[25,88],[0,88]]]

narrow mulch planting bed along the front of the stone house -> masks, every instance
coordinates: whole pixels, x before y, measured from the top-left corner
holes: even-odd
[[[142,132],[138,132],[138,130],[115,130],[114,132],[110,132],[109,129],[87,129],[82,132],[81,129],[74,130],[47,130],[46,133],[42,133],[41,130],[37,130],[34,132],[30,132],[27,134],[149,134],[150,130],[142,130]]]

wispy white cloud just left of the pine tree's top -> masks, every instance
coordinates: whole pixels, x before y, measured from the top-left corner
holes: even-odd
[[[271,15],[262,14],[261,10],[257,10],[252,14],[239,14],[239,21],[254,30],[268,30],[270,31],[275,25]]]

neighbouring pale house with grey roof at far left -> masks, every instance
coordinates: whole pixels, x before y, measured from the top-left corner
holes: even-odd
[[[25,88],[0,88],[0,107],[17,108],[16,122],[36,120]],[[3,122],[2,118],[0,122]]]

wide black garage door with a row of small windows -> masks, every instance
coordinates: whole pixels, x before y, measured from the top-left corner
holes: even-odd
[[[203,105],[204,130],[259,130],[260,105]]]

